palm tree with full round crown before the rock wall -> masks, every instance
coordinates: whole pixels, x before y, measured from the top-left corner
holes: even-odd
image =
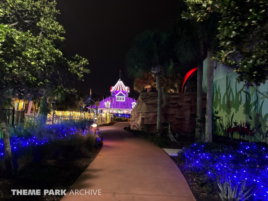
[[[161,77],[170,76],[178,70],[174,62],[174,47],[170,34],[163,31],[145,31],[137,36],[135,43],[126,55],[126,68],[130,77],[142,77],[144,71],[151,71],[156,78],[157,136],[161,136]]]

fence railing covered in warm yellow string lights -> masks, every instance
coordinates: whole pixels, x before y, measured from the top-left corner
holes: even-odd
[[[111,122],[111,114],[110,113],[88,113],[88,112],[74,112],[74,111],[55,111],[55,115],[47,116],[47,124],[58,124],[64,121],[79,121],[79,120],[91,120],[96,121],[98,125],[100,124],[108,124]]]

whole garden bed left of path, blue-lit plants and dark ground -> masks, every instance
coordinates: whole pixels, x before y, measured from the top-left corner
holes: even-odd
[[[62,196],[12,196],[11,189],[68,189],[102,147],[92,121],[32,124],[12,129],[13,175],[4,165],[0,139],[0,200],[60,200]]]

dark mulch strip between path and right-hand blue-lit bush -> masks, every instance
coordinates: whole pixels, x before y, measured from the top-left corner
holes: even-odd
[[[221,201],[217,190],[200,181],[199,175],[187,170],[185,163],[179,157],[170,157],[183,173],[196,201]]]

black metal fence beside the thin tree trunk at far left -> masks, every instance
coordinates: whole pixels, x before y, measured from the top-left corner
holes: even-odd
[[[6,115],[6,122],[12,127],[16,127],[24,122],[24,110],[4,110],[4,113]]]

